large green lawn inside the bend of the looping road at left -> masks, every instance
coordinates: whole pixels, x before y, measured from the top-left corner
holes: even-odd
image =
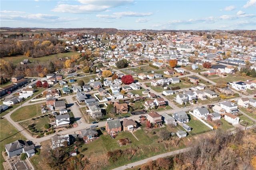
[[[33,117],[41,116],[41,105],[42,103],[38,103],[36,105],[28,105],[21,107],[12,113],[11,118],[15,122],[24,121],[26,119],[31,119]]]

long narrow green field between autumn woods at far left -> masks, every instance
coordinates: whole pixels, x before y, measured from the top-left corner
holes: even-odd
[[[46,62],[46,61],[50,61],[52,59],[58,59],[60,57],[71,57],[72,55],[80,55],[80,53],[70,51],[67,53],[58,53],[58,54],[46,55],[43,57],[36,57],[36,58],[27,57],[26,55],[16,55],[16,56],[12,56],[12,57],[1,57],[1,59],[9,61],[10,63],[13,63],[14,65],[17,65],[24,59],[29,59],[29,61],[32,64],[32,63],[37,63],[37,62]]]

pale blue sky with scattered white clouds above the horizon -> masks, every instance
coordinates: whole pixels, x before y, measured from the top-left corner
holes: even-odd
[[[1,0],[0,26],[256,30],[256,0]]]

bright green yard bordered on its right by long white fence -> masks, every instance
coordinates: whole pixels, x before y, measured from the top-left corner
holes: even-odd
[[[188,132],[189,134],[200,134],[204,132],[208,132],[211,129],[204,125],[202,122],[200,122],[196,117],[190,115],[191,120],[187,123],[188,126],[192,128],[191,132]]]

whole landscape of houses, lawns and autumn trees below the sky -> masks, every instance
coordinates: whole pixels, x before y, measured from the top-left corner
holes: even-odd
[[[1,169],[256,168],[256,31],[1,29]]]

